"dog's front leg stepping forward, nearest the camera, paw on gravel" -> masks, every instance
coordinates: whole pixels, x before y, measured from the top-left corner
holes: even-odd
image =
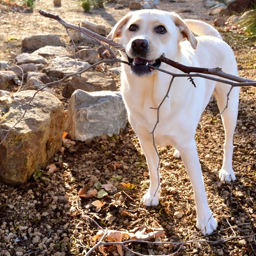
[[[188,147],[178,149],[195,193],[197,214],[196,227],[199,230],[202,230],[203,235],[211,234],[214,230],[216,230],[217,222],[213,218],[207,203],[202,170],[196,151],[196,143],[195,141],[191,141]]]

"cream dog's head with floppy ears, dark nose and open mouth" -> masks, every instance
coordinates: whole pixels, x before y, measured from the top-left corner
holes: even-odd
[[[117,22],[108,35],[112,40],[120,38],[125,47],[125,58],[131,64],[132,73],[150,76],[153,69],[160,67],[163,54],[175,60],[180,42],[186,38],[193,49],[197,40],[188,26],[176,13],[160,10],[140,10],[130,12]]]

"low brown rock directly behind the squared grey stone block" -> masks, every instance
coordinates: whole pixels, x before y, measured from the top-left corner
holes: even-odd
[[[63,88],[62,95],[70,98],[78,89],[86,92],[116,91],[116,83],[100,72],[85,72],[81,76],[70,77]]]

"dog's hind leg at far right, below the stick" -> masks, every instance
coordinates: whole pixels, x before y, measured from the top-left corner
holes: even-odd
[[[232,167],[233,156],[233,136],[236,129],[237,112],[239,103],[239,87],[235,87],[228,92],[230,86],[227,84],[218,84],[215,88],[214,95],[216,97],[218,108],[221,113],[221,120],[225,129],[225,142],[223,146],[223,164],[219,173],[221,181],[236,180],[236,176]]]

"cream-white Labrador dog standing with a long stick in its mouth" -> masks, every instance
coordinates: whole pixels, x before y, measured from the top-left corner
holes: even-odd
[[[194,34],[198,35],[195,36]],[[164,99],[172,77],[154,67],[175,74],[180,70],[163,63],[161,56],[191,67],[220,67],[224,72],[237,75],[237,64],[232,49],[223,42],[220,33],[200,20],[182,20],[173,12],[138,10],[130,12],[117,22],[108,38],[119,39],[124,47],[121,93],[132,129],[138,135],[150,173],[150,186],[143,196],[146,206],[159,204],[161,192],[159,156],[156,145],[172,145],[182,158],[193,185],[196,203],[196,227],[203,235],[217,228],[205,194],[204,180],[196,150],[195,132],[200,116],[212,94],[220,112],[227,104],[227,84],[195,77],[193,86],[188,77],[176,77]],[[221,113],[225,128],[222,182],[236,180],[232,168],[233,136],[237,122],[239,88],[233,88],[228,108]],[[157,110],[159,113],[157,116]],[[157,118],[159,123],[156,125]],[[154,129],[154,143],[152,131]],[[178,150],[178,151],[177,151]]]

